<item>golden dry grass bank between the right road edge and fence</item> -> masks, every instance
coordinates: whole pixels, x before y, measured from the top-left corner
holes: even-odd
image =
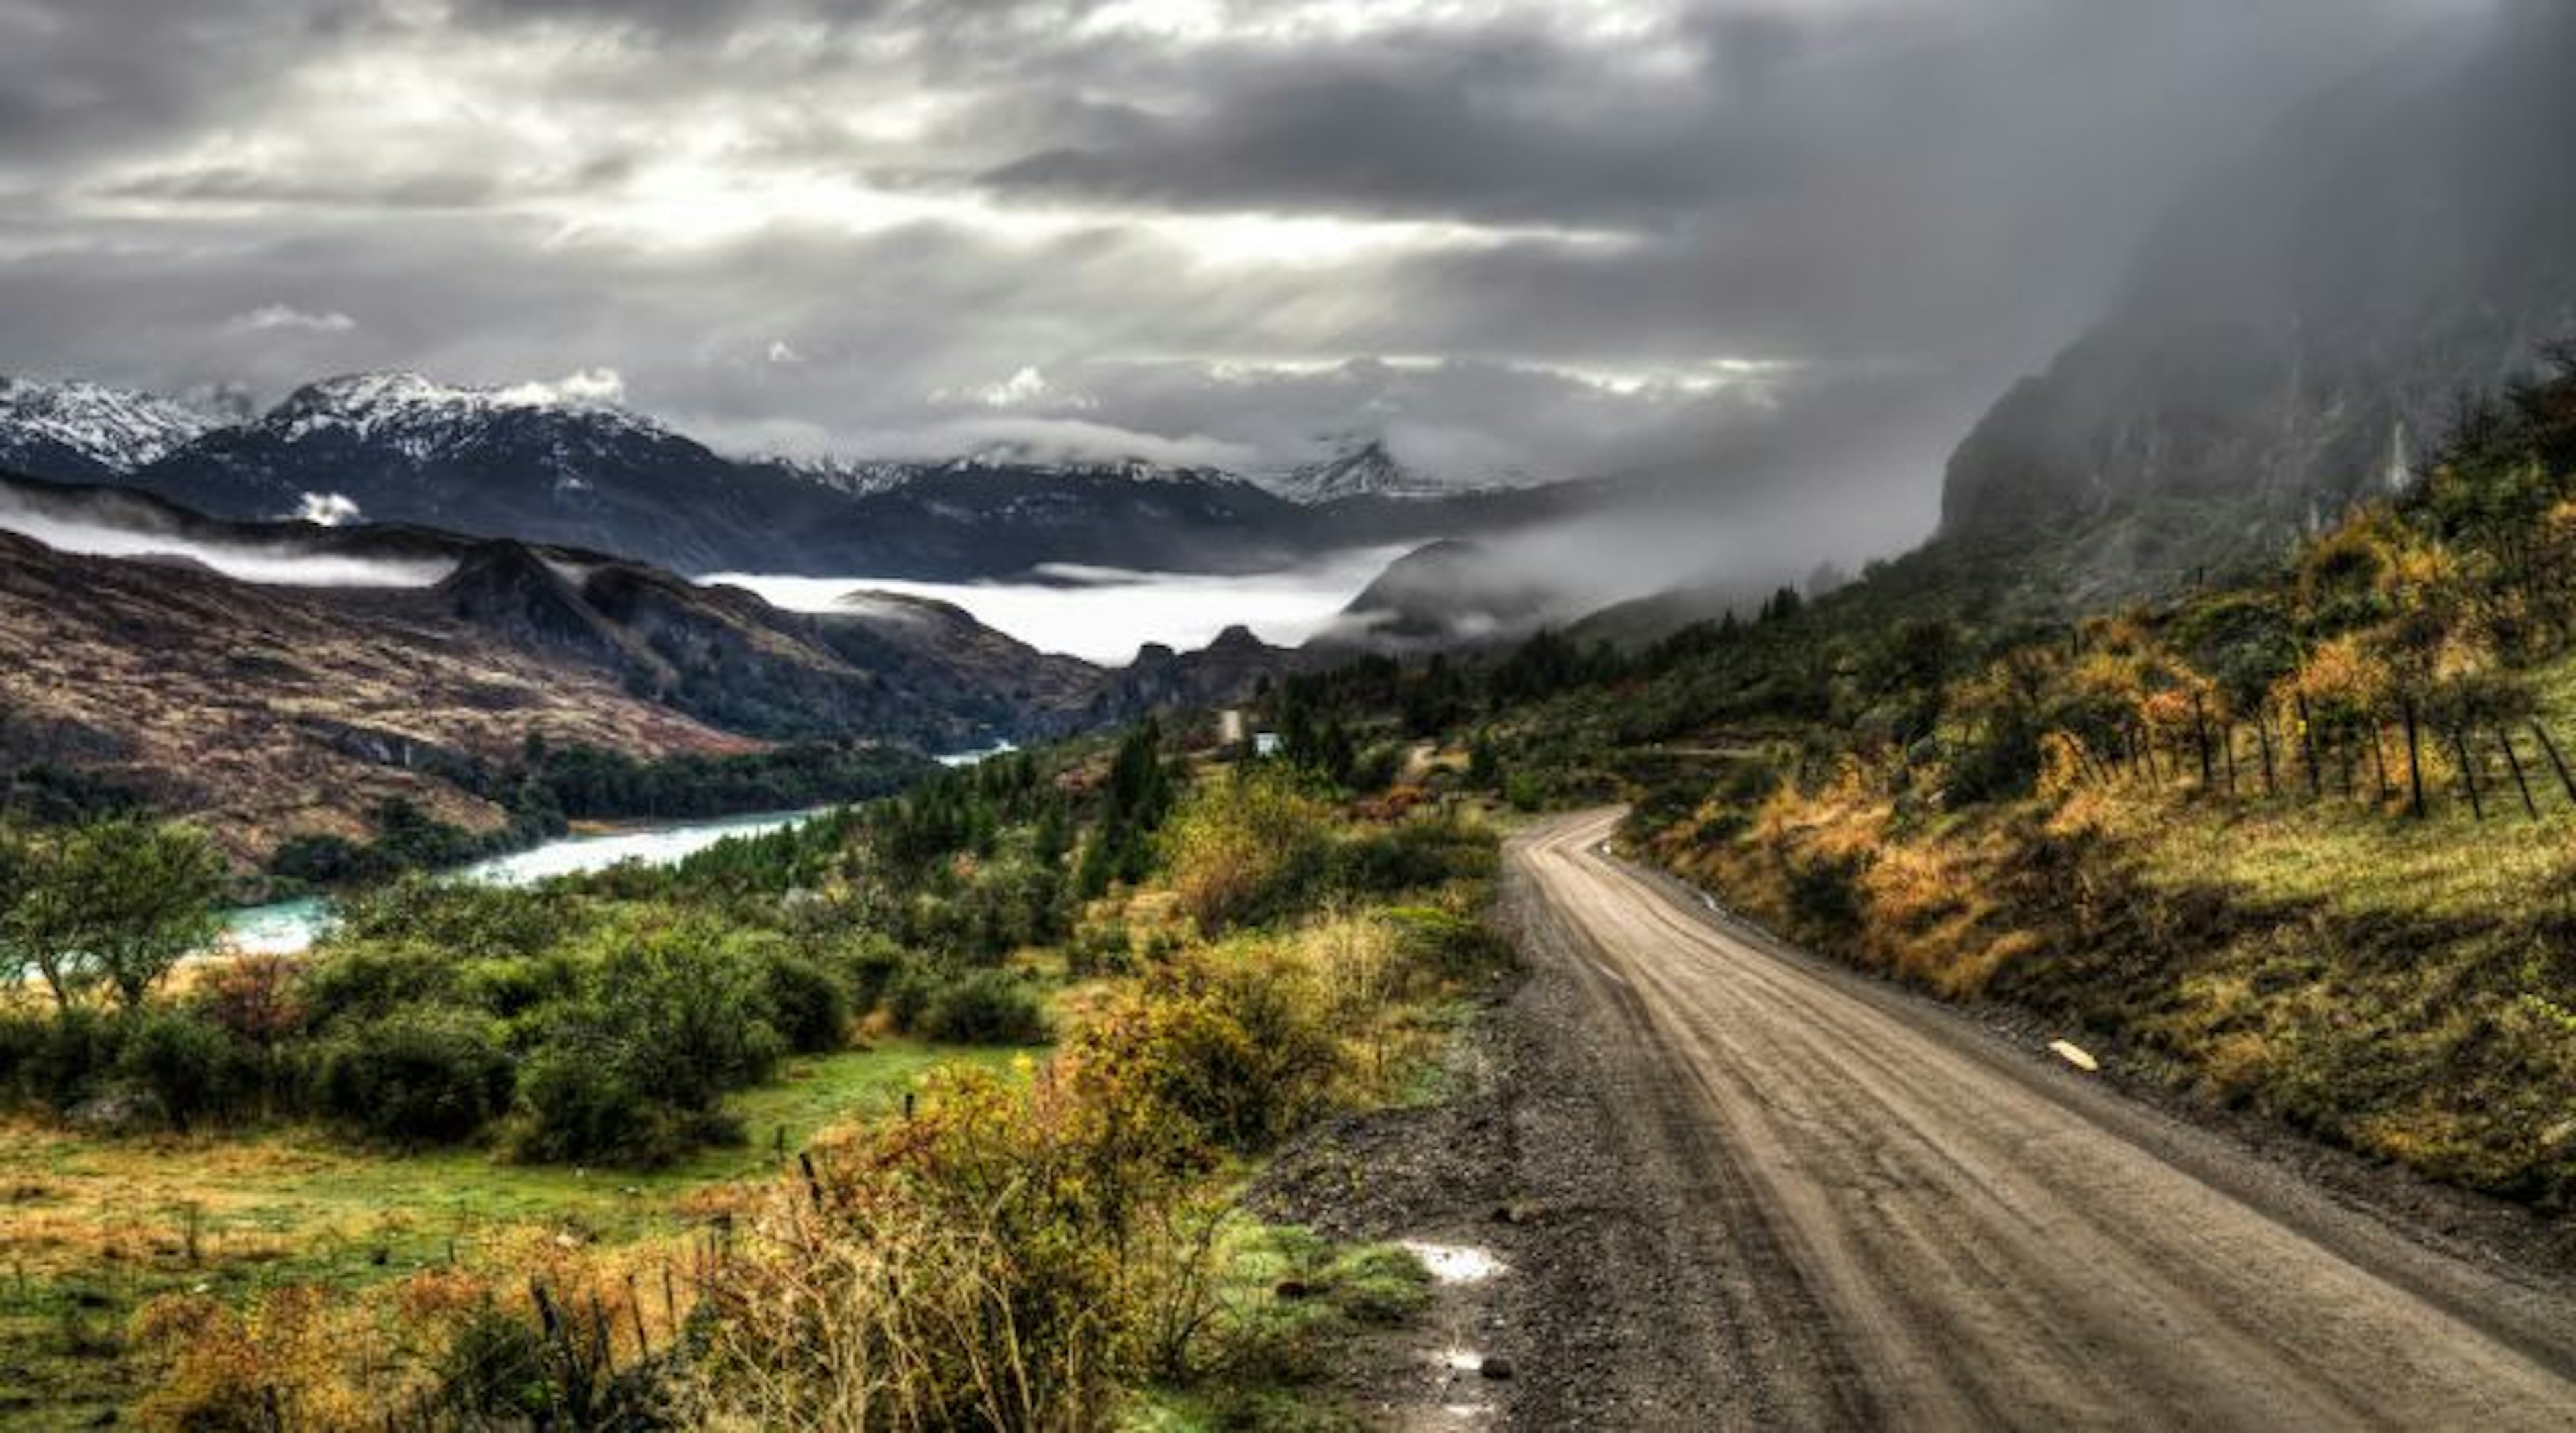
[[[2148,786],[1904,817],[1850,773],[1749,825],[1710,817],[1698,830],[1734,835],[1667,832],[1656,853],[1816,948],[2032,1005],[2210,1101],[2437,1178],[2576,1198],[2571,817]]]

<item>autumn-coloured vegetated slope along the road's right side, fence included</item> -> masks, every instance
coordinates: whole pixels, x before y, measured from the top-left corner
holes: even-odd
[[[2025,539],[2035,541],[2035,539]],[[2576,1204],[2576,353],[2406,495],[2069,613],[1932,544],[1649,647],[1293,683],[1473,750],[1785,936],[2215,1106]]]

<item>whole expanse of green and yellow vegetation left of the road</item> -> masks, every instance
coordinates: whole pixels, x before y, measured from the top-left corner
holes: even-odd
[[[1468,807],[1154,727],[672,869],[368,884],[296,959],[180,959],[183,827],[0,858],[39,1425],[1347,1425],[1332,1351],[1425,1276],[1239,1191],[1502,959]]]

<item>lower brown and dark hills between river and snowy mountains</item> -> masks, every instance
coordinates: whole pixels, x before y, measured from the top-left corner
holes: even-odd
[[[1236,701],[1296,662],[1236,631],[1100,670],[912,595],[799,613],[572,546],[240,523],[0,474],[0,776],[80,771],[216,817],[245,861],[363,835],[386,796],[492,827],[464,776],[531,737],[631,758],[976,750]]]

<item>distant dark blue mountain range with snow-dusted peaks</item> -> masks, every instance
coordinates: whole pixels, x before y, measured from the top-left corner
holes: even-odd
[[[1373,441],[1262,479],[1015,451],[734,459],[618,405],[417,374],[322,379],[245,423],[95,384],[15,379],[0,394],[0,464],[33,477],[126,485],[216,518],[417,523],[690,575],[1262,572],[1510,531],[1589,500],[1582,485],[1445,490]]]

